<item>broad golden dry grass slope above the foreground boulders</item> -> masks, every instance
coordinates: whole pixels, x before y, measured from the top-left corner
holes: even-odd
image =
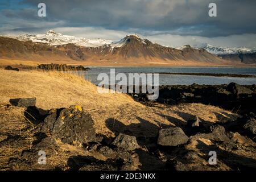
[[[36,97],[36,106],[46,110],[81,105],[92,114],[96,131],[108,136],[113,136],[113,132],[106,127],[107,119],[130,125],[129,129],[139,134],[140,129],[132,124],[143,123],[143,127],[185,125],[190,114],[208,122],[237,117],[230,111],[203,104],[144,106],[127,94],[100,94],[96,85],[71,73],[0,70],[0,75],[0,103],[9,103],[10,98]],[[151,130],[148,127],[143,135],[151,136]]]

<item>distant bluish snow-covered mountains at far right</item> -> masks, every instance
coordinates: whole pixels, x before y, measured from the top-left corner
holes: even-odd
[[[246,47],[229,47],[229,48],[223,48],[223,47],[214,47],[210,44],[201,44],[194,46],[195,48],[204,48],[208,52],[214,54],[214,55],[232,55],[236,53],[254,53],[256,52],[256,48],[246,48]]]

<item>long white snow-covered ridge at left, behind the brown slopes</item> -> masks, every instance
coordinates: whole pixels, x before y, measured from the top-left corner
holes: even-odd
[[[60,46],[60,45],[71,43],[71,44],[75,44],[76,46],[99,47],[105,44],[112,43],[112,40],[76,38],[75,36],[56,33],[53,30],[49,30],[46,34],[38,34],[38,35],[23,34],[16,37],[16,39],[21,41],[31,40],[34,43],[46,43],[51,46]]]

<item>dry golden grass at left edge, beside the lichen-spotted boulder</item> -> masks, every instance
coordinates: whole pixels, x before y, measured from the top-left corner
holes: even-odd
[[[34,125],[24,117],[23,108],[0,105],[0,142],[7,137],[20,138],[18,142],[0,144],[0,169],[6,168],[10,158],[18,158],[23,150],[32,147],[33,129]]]

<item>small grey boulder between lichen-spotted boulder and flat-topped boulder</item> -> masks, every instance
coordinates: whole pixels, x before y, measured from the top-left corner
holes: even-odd
[[[124,148],[127,151],[133,151],[139,148],[136,137],[119,133],[112,142],[114,146]]]

